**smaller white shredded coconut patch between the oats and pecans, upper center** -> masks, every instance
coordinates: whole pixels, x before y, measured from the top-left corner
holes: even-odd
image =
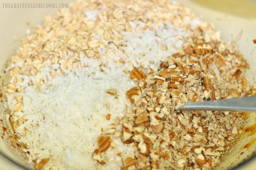
[[[139,22],[138,24],[138,22],[132,21],[129,23],[134,31],[132,33],[123,32],[123,44],[126,45],[127,56],[123,56],[122,59],[130,61],[135,67],[142,66],[156,71],[159,61],[164,61],[168,56],[176,53],[184,43],[183,39],[179,40],[177,37],[188,36],[185,28],[177,28],[170,24],[155,25],[154,30],[140,31],[140,27],[145,23]],[[166,47],[166,50],[162,49],[163,46]]]

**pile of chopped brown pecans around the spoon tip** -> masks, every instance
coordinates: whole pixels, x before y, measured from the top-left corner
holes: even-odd
[[[154,73],[130,72],[137,86],[126,92],[133,106],[122,119],[121,139],[137,149],[134,158],[123,158],[124,170],[213,168],[242,133],[244,113],[177,108],[248,95],[243,57],[202,31],[183,47]]]

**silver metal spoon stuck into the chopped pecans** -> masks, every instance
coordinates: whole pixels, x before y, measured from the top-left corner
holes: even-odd
[[[256,112],[256,96],[186,103],[179,110]]]

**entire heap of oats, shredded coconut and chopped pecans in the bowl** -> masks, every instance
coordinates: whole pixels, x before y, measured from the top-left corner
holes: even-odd
[[[79,0],[6,64],[9,132],[40,169],[208,169],[244,114],[179,111],[246,96],[248,64],[169,0]]]

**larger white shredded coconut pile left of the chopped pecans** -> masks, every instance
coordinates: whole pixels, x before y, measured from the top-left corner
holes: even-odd
[[[95,166],[91,154],[97,147],[95,141],[102,133],[101,127],[107,129],[109,124],[105,116],[107,113],[114,118],[124,115],[125,104],[129,105],[125,92],[135,85],[122,72],[120,64],[110,60],[108,66],[102,67],[104,72],[98,71],[103,61],[108,60],[87,59],[85,62],[90,67],[65,71],[64,75],[55,78],[48,76],[49,87],[43,85],[37,91],[36,85],[28,86],[24,93],[19,94],[24,100],[26,123],[17,127],[17,132],[24,135],[19,142],[28,144],[24,151],[29,151],[31,161],[37,157],[51,157],[55,168],[65,167],[64,163],[85,169]],[[43,70],[49,72],[51,68],[46,66]],[[41,74],[43,76],[45,71]],[[118,91],[117,99],[105,92],[113,88]],[[27,134],[25,130],[30,133]],[[123,146],[120,139],[116,139],[115,143],[120,152],[129,154],[133,151],[132,147]],[[81,162],[81,158],[88,161]],[[69,161],[58,163],[60,160]],[[113,160],[112,165],[110,161],[108,166],[116,168],[118,165],[115,164],[120,164],[120,161]]]

